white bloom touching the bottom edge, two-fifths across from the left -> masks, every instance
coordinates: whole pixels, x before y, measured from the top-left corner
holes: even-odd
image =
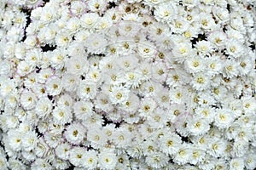
[[[98,166],[102,169],[113,169],[117,162],[117,156],[112,149],[102,149],[99,153]]]

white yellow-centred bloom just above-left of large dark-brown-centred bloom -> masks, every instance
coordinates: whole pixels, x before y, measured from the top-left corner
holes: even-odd
[[[70,108],[55,107],[52,111],[54,122],[57,124],[65,124],[67,122],[72,122],[73,115]]]

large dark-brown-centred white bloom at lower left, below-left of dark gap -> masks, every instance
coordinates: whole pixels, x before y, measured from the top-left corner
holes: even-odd
[[[69,125],[64,133],[67,141],[71,144],[81,144],[85,139],[86,129],[78,122]]]

